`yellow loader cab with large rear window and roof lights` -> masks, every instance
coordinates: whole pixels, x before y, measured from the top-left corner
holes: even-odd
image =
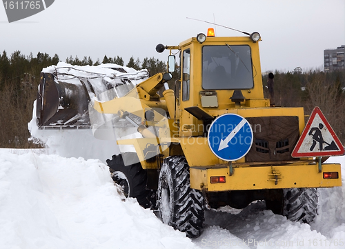
[[[205,135],[205,126],[231,109],[269,106],[262,88],[258,41],[198,39],[199,35],[179,44],[181,137]]]

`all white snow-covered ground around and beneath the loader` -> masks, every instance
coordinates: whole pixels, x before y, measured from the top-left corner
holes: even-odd
[[[328,161],[342,163],[345,157]],[[0,150],[0,248],[345,248],[343,186],[319,190],[311,226],[252,203],[206,211],[204,233],[188,239],[135,199],[124,199],[97,159]],[[237,211],[237,212],[235,212]]]

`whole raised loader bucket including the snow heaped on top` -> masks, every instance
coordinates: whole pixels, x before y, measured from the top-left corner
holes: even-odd
[[[90,129],[90,99],[122,97],[148,78],[147,70],[117,64],[72,66],[59,62],[43,68],[37,94],[39,129]]]

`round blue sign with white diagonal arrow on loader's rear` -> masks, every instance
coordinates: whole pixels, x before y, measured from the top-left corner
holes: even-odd
[[[219,159],[236,161],[250,150],[253,130],[244,117],[228,113],[213,121],[207,139],[208,146]]]

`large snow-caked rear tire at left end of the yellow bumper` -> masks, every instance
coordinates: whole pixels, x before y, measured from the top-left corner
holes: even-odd
[[[185,157],[164,159],[157,191],[161,221],[186,232],[187,237],[199,237],[204,222],[204,197],[190,188],[189,166]]]

